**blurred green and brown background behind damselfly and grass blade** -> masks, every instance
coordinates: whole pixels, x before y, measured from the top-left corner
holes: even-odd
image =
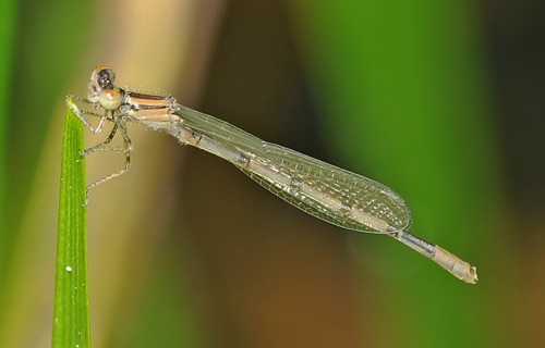
[[[50,345],[64,96],[92,70],[399,192],[457,281],[130,128],[89,202],[95,347],[535,347],[545,338],[537,0],[0,5],[0,347]],[[88,145],[100,137],[88,134]],[[88,158],[93,182],[122,165]]]

